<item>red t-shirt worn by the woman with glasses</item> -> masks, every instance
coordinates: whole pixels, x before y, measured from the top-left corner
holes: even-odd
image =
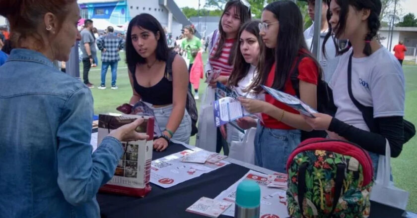
[[[297,58],[295,58],[294,63],[292,65],[294,65],[297,62]],[[267,81],[266,81],[266,84],[265,84],[268,87],[272,87],[272,84],[274,83],[275,67],[276,67],[276,63],[274,63],[274,65],[271,68],[271,71],[269,72],[269,75],[268,75],[268,78],[267,78]],[[314,62],[313,59],[311,59],[310,57],[304,57],[300,61],[300,63],[298,64],[298,77],[297,78],[299,80],[304,81],[304,82],[317,85],[318,68],[317,68],[317,65],[316,65],[316,63]],[[289,77],[288,77],[287,81],[285,82],[284,92],[295,96],[295,90],[292,88],[291,79]],[[274,105],[277,108],[283,109],[283,110],[291,112],[291,113],[299,114],[299,112],[297,110],[292,109],[292,108],[286,106],[285,104],[283,104],[281,102],[278,102],[277,100],[275,100],[269,94],[265,94],[265,101]],[[262,119],[264,120],[264,123],[262,123],[262,125],[265,126],[265,127],[268,127],[268,128],[272,128],[272,129],[295,129],[295,128],[293,128],[291,126],[288,126],[288,125],[286,125],[282,122],[279,122],[274,117],[271,117],[271,116],[269,116],[265,113],[262,113]]]

